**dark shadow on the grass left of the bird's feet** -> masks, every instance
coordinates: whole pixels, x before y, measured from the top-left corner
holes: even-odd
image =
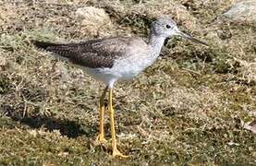
[[[42,114],[25,115],[17,113],[10,108],[2,109],[3,113],[13,121],[19,122],[22,125],[29,125],[30,128],[45,128],[47,131],[58,130],[62,136],[76,138],[78,136],[94,136],[96,126],[79,125],[78,122],[68,119],[58,119],[52,116]]]

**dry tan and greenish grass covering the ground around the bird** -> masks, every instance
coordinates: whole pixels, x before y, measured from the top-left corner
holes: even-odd
[[[0,163],[255,164],[255,135],[240,122],[255,119],[256,29],[218,19],[233,1],[203,2],[1,2]],[[103,7],[111,25],[83,29],[75,19],[79,6]],[[30,40],[146,36],[162,13],[211,47],[175,39],[140,77],[116,85],[118,145],[130,158],[112,159],[110,142],[93,143],[101,92],[95,89],[103,85]]]

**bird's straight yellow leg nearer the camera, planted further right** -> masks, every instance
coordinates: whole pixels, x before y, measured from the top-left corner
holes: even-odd
[[[112,93],[113,93],[113,89],[109,89],[108,111],[109,111],[110,126],[111,126],[111,139],[112,139],[113,157],[119,156],[121,158],[128,158],[128,156],[123,155],[116,148],[116,131],[115,131],[114,109],[113,109],[113,106],[112,106]]]

